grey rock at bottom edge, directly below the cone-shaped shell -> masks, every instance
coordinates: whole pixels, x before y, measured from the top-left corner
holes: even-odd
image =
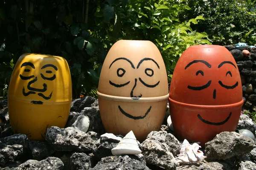
[[[144,161],[136,156],[108,156],[102,158],[90,170],[150,170]]]

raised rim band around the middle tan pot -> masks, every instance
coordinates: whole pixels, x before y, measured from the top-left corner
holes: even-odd
[[[164,101],[169,98],[169,94],[166,94],[165,96],[157,96],[157,97],[141,97],[139,99],[132,99],[131,97],[122,97],[122,96],[111,96],[108,94],[102,94],[99,91],[97,91],[98,97],[102,99],[107,99],[107,100],[113,100],[113,101],[119,101],[119,102],[160,102]]]

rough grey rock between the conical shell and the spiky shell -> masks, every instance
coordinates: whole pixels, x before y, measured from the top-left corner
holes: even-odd
[[[148,164],[154,164],[161,168],[175,170],[177,161],[169,151],[169,146],[165,143],[166,134],[166,131],[153,131],[149,133],[147,139],[141,144],[141,150]],[[178,145],[180,146],[180,144]],[[177,148],[180,150],[180,147]]]

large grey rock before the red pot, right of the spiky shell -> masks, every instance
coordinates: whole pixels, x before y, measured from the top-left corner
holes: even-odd
[[[256,145],[252,139],[236,132],[221,132],[205,144],[207,159],[228,159],[250,153]]]

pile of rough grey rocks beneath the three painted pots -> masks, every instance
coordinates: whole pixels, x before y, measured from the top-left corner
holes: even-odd
[[[222,132],[207,142],[204,149],[200,148],[206,156],[202,161],[180,164],[175,157],[180,154],[182,141],[178,141],[166,125],[162,125],[160,131],[149,133],[144,142],[135,142],[141,153],[113,156],[111,150],[119,148],[117,146],[124,143],[121,141],[127,139],[105,133],[98,101],[89,96],[73,100],[66,127],[49,127],[44,142],[12,134],[6,100],[0,101],[0,109],[0,169],[3,170],[256,169],[255,142],[236,132]],[[241,115],[238,128],[255,133],[256,125],[247,115]]]

